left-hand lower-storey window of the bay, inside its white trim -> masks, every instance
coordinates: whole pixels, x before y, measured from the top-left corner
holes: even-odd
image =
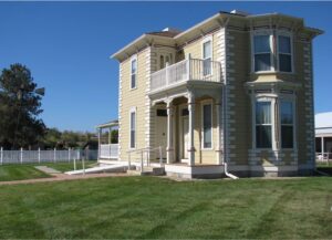
[[[256,147],[272,147],[271,102],[256,102]]]

